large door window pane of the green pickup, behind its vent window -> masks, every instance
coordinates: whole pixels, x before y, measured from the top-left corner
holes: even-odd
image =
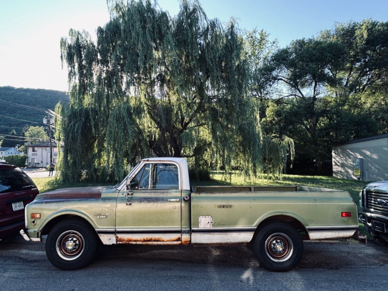
[[[151,188],[179,189],[177,166],[173,164],[154,164],[151,174]]]

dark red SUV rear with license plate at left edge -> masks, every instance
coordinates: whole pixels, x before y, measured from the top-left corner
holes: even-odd
[[[30,177],[16,166],[0,163],[0,240],[24,228],[24,208],[39,194]]]

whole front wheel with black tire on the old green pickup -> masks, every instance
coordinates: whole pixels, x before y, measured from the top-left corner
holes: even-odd
[[[68,218],[50,230],[46,239],[46,255],[55,267],[76,270],[93,260],[98,243],[95,230],[87,222]]]

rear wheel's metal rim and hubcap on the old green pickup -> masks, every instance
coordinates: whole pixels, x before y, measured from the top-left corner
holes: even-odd
[[[270,235],[265,241],[265,253],[275,262],[288,260],[294,251],[294,245],[286,234],[277,232]]]

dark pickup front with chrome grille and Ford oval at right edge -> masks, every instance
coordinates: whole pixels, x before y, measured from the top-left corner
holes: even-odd
[[[359,220],[375,238],[388,241],[388,181],[373,182],[360,192]]]

